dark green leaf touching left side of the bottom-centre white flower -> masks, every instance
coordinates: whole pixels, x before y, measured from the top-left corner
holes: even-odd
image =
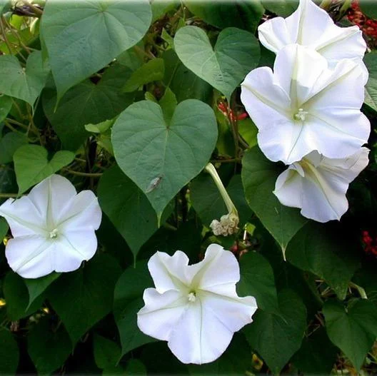
[[[144,260],[136,263],[136,268],[127,268],[116,283],[114,317],[121,337],[122,355],[136,347],[155,341],[154,338],[139,330],[136,315],[144,305],[144,290],[153,286],[154,283]]]

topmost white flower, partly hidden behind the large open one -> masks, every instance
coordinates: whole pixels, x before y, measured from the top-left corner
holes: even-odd
[[[275,53],[288,44],[301,44],[318,51],[331,66],[341,59],[355,59],[368,74],[362,62],[366,42],[358,26],[336,26],[311,0],[300,0],[297,10],[286,19],[276,17],[263,22],[258,34],[261,44]]]

